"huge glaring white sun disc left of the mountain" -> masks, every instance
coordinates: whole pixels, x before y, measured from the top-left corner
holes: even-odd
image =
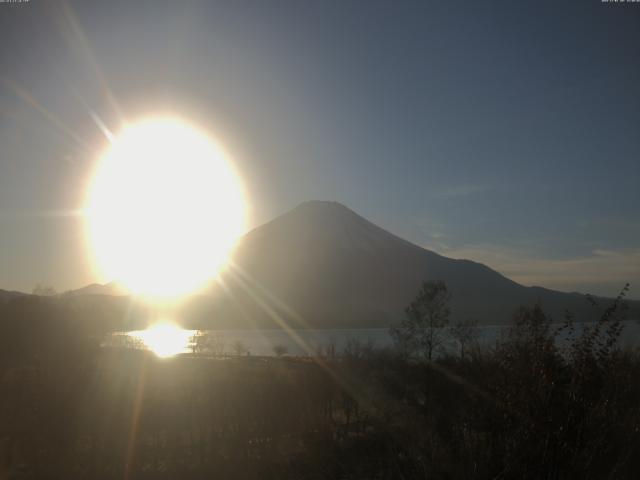
[[[171,299],[202,288],[226,264],[244,230],[245,200],[215,141],[162,118],[115,136],[93,173],[85,214],[104,280]]]

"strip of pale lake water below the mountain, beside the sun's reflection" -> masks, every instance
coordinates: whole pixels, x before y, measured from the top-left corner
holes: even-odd
[[[582,324],[576,324],[579,331]],[[559,325],[557,325],[559,326]],[[492,345],[508,326],[484,326],[478,327],[479,343]],[[175,353],[191,352],[191,337],[197,332],[183,330],[180,344],[174,346]],[[243,354],[270,356],[274,355],[277,347],[281,347],[289,355],[315,355],[318,351],[326,352],[333,349],[340,353],[350,342],[370,344],[380,348],[392,344],[388,329],[326,329],[326,330],[211,330],[210,347],[216,354]],[[453,340],[446,336],[447,348],[455,349]],[[114,334],[105,344],[110,346],[123,345],[123,340],[140,339],[140,332],[126,332]],[[625,321],[620,343],[622,347],[640,346],[640,323],[638,321]],[[152,345],[147,347],[153,350]]]

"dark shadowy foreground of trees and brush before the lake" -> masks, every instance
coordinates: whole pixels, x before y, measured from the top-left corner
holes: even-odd
[[[441,325],[446,295],[429,288]],[[458,326],[457,355],[433,354],[416,302],[395,349],[161,360],[16,299],[0,310],[0,478],[636,478],[622,296],[580,329],[523,307],[491,348]]]

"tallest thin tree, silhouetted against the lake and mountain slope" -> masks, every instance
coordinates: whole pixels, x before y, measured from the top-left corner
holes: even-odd
[[[444,282],[427,281],[407,309],[400,325],[390,329],[396,345],[407,355],[421,354],[428,360],[444,342],[449,323],[451,295]]]

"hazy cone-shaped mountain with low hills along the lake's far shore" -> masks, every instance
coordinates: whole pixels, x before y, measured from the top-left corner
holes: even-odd
[[[446,282],[454,321],[504,324],[518,306],[536,302],[556,320],[566,310],[578,320],[596,313],[582,294],[522,286],[483,264],[403,240],[344,205],[313,201],[245,235],[209,294],[189,298],[175,314],[198,328],[387,327],[425,280]],[[62,298],[87,312],[92,305],[118,312],[110,323],[122,328],[148,319],[148,307],[122,293],[115,284],[94,284]],[[630,305],[629,315],[640,318],[640,302]]]

